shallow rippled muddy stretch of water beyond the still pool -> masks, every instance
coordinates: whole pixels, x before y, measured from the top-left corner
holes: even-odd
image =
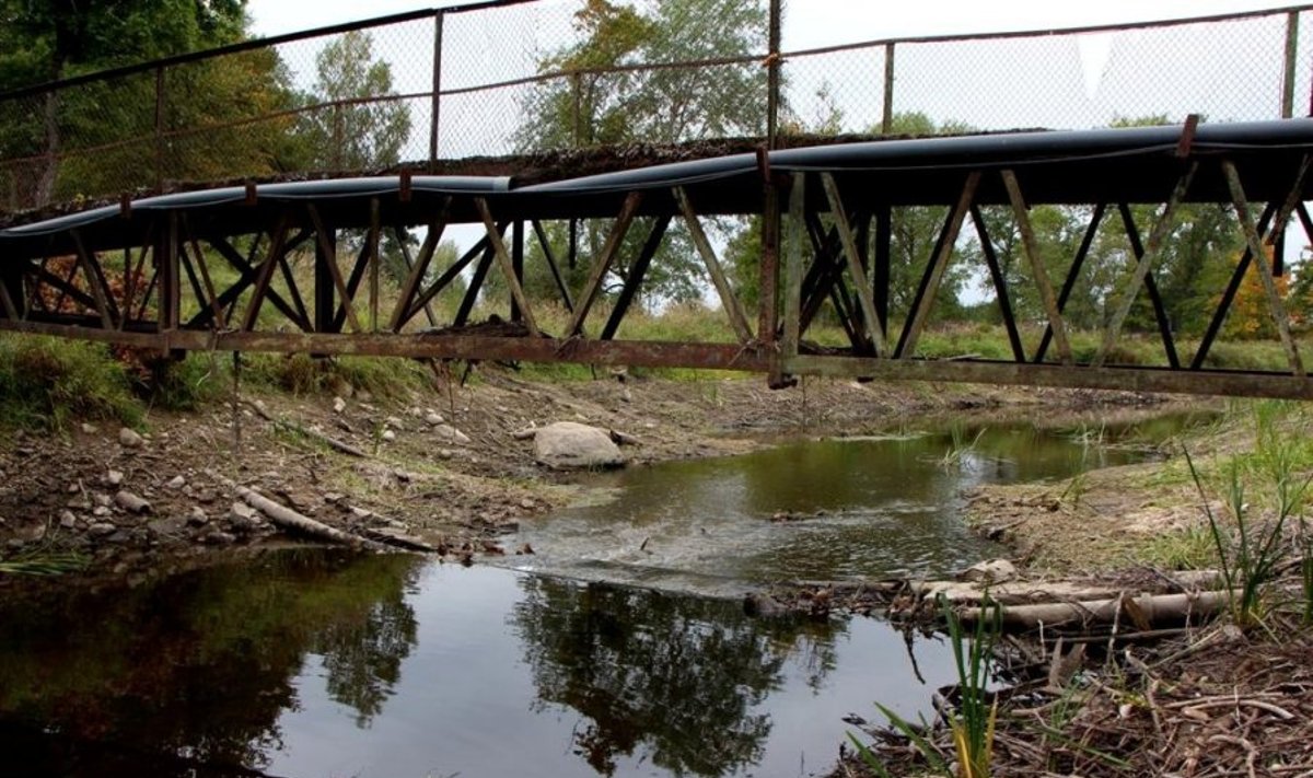
[[[958,427],[617,472],[593,478],[578,505],[525,526],[516,541],[536,556],[506,564],[704,594],[945,574],[1001,553],[962,523],[965,490],[1134,461],[1141,449],[1107,444],[1136,434]]]

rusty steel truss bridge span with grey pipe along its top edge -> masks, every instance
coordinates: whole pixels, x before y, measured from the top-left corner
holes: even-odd
[[[466,360],[570,361],[738,369],[792,376],[872,376],[1102,389],[1313,398],[1276,279],[1285,272],[1280,243],[1299,218],[1306,233],[1313,120],[1011,133],[880,141],[734,155],[517,187],[506,177],[391,176],[248,185],[123,200],[59,218],[0,230],[0,329],[105,340],[161,352],[176,350],[362,354]],[[1188,239],[1174,221],[1182,204],[1222,204],[1245,237],[1245,254],[1217,289],[1211,325],[1192,355],[1180,354],[1154,265],[1167,240]],[[1028,206],[1085,205],[1091,218],[1075,255],[1054,265],[1041,256]],[[1157,204],[1153,223],[1137,225],[1132,205]],[[947,206],[947,218],[902,322],[890,317],[892,213],[911,205]],[[982,206],[1011,209],[1022,235],[1028,284],[1043,302],[1045,331],[1022,336],[1011,304],[1019,289],[993,251]],[[760,216],[760,300],[750,317],[735,293],[704,217]],[[593,256],[554,256],[545,225],[609,219]],[[1100,225],[1124,229],[1134,260],[1127,271],[1099,346],[1074,352],[1064,319],[1071,289]],[[617,339],[642,292],[672,222],[683,221],[714,283],[733,342]],[[483,237],[454,263],[433,267],[445,227],[482,225]],[[1011,359],[918,357],[945,268],[964,229],[982,255],[1008,335]],[[414,252],[406,231],[424,227]],[[344,231],[364,238],[344,239]],[[645,231],[642,240],[625,238]],[[399,293],[379,292],[379,244],[403,247],[408,275]],[[538,250],[527,252],[527,243]],[[633,250],[632,256],[621,256]],[[314,254],[306,289],[291,258]],[[1275,260],[1268,260],[1275,256]],[[553,298],[530,298],[525,262],[542,262],[555,280]],[[1258,258],[1259,262],[1254,262]],[[571,289],[561,265],[586,262],[583,288]],[[223,279],[211,271],[226,265]],[[595,313],[603,281],[617,263],[629,268],[605,315]],[[1049,269],[1062,267],[1061,277]],[[490,273],[499,276],[507,322],[471,325]],[[1257,273],[1287,355],[1280,372],[1209,368],[1209,354],[1246,273]],[[431,301],[469,279],[452,321]],[[1119,364],[1119,343],[1136,298],[1152,304],[1162,364]],[[395,297],[395,301],[393,300]],[[818,313],[832,306],[843,348],[807,346]],[[559,332],[534,311],[563,306]],[[184,311],[188,315],[184,315]],[[277,317],[261,315],[277,311]],[[595,315],[590,315],[595,314]],[[429,329],[418,331],[420,318]],[[1032,339],[1033,340],[1033,339]]]

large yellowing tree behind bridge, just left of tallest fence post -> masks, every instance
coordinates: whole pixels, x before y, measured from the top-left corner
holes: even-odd
[[[656,0],[635,8],[588,0],[575,13],[579,41],[542,59],[540,71],[569,74],[546,81],[524,105],[525,121],[515,133],[516,147],[533,152],[570,146],[679,142],[726,135],[759,135],[765,127],[765,71],[756,63],[718,67],[620,70],[651,63],[750,57],[765,47],[764,8],[738,0]],[[720,226],[704,219],[708,231]],[[653,226],[637,219],[604,285],[614,294],[630,277],[630,267]],[[597,256],[611,229],[609,219],[590,219],[576,235],[582,254]],[[555,256],[567,254],[569,229],[546,225]],[[555,284],[542,251],[530,242],[525,288],[550,296]],[[579,289],[588,267],[569,273]],[[488,293],[503,283],[490,276]],[[685,227],[672,222],[643,276],[647,302],[697,300],[706,288],[701,262]],[[639,300],[642,302],[642,300]]]

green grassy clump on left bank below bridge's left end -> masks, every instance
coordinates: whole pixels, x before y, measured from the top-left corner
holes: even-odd
[[[51,430],[74,418],[142,418],[127,371],[108,348],[38,335],[0,335],[0,409],[5,423]]]

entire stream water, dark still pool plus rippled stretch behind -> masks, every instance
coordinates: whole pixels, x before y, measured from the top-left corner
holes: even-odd
[[[948,465],[952,436],[930,435],[607,477],[593,486],[618,497],[529,535],[536,565],[591,581],[285,549],[7,593],[0,774],[823,773],[846,715],[924,710],[947,648],[874,619],[748,619],[700,593],[956,566],[991,551],[960,530],[964,486],[1132,456],[1025,431],[966,451],[974,435]]]

